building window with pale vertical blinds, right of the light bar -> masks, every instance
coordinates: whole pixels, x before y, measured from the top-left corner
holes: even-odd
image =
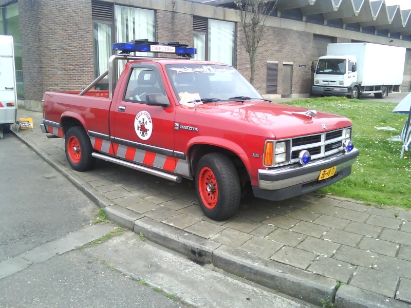
[[[234,66],[235,23],[193,17],[196,60],[208,60]]]

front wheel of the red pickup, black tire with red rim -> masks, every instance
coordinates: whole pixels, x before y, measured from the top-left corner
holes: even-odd
[[[203,213],[214,220],[231,218],[240,205],[241,187],[233,161],[222,153],[209,153],[198,162],[195,175]]]

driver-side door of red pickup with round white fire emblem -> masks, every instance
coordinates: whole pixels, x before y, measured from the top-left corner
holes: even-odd
[[[148,106],[147,94],[165,95],[162,75],[154,64],[134,64],[114,109],[110,131],[116,156],[130,161],[175,171],[174,108]],[[112,139],[113,140],[113,139]]]

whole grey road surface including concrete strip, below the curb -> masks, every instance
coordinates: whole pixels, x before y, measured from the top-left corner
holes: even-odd
[[[0,307],[312,307],[132,232],[11,134],[0,140]]]

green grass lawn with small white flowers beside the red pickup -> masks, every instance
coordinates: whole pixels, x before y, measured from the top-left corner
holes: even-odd
[[[402,142],[387,139],[401,134],[406,115],[393,113],[396,104],[326,97],[284,103],[349,118],[352,140],[360,156],[349,177],[319,190],[322,194],[362,200],[368,204],[411,208],[411,152],[400,159]],[[378,130],[393,127],[397,131]]]

